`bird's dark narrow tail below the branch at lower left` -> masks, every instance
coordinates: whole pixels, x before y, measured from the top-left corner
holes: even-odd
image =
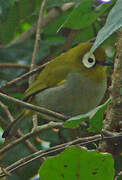
[[[8,127],[3,132],[2,138],[7,138],[13,134],[15,129],[17,129],[16,125],[25,116],[25,111],[23,111],[13,122],[11,122]]]

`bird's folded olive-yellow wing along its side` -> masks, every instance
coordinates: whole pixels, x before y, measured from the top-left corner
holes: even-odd
[[[69,68],[67,65],[60,65],[58,68],[57,66],[53,66],[53,64],[47,65],[35,82],[33,82],[26,90],[23,99],[27,100],[30,96],[41,92],[44,89],[65,83],[68,73]]]

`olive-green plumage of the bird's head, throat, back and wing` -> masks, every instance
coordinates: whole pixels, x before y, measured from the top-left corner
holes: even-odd
[[[90,50],[91,46],[92,44],[89,42],[81,43],[53,59],[39,74],[35,82],[26,90],[23,98],[27,99],[43,89],[57,86],[66,79],[70,72],[83,73],[98,83],[103,81],[106,76],[106,68],[104,66],[86,69],[82,64],[82,57]],[[106,55],[102,48],[98,48],[94,54],[97,61],[105,61]]]

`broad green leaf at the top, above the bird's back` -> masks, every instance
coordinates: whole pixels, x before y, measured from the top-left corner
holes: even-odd
[[[93,2],[91,0],[83,0],[76,4],[73,11],[66,19],[64,24],[60,27],[68,27],[73,29],[83,29],[88,27],[96,21],[96,19],[102,15],[113,2],[108,4],[102,4],[97,7],[96,10],[92,10]]]

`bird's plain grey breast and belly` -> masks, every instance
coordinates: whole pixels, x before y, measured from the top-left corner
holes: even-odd
[[[101,102],[106,79],[98,84],[79,73],[71,73],[64,84],[45,89],[35,96],[39,106],[69,116],[85,114]]]

